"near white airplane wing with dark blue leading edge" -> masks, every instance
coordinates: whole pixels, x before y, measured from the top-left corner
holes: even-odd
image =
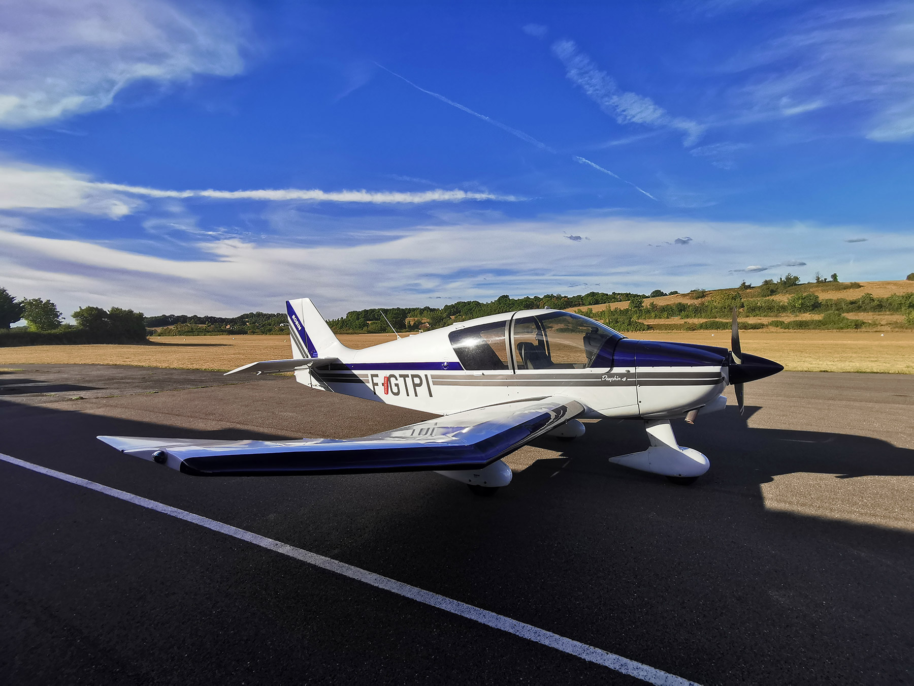
[[[365,438],[212,441],[99,436],[127,455],[196,476],[291,476],[475,469],[584,412],[568,398],[507,402]]]

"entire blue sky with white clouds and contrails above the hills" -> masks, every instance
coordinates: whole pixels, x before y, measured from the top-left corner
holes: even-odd
[[[914,4],[0,7],[0,285],[278,311],[914,271]]]

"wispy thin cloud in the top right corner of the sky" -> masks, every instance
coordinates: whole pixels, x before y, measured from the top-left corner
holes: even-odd
[[[907,141],[914,138],[912,45],[909,2],[823,5],[726,69],[749,74],[735,94],[749,118],[844,108],[870,140]]]

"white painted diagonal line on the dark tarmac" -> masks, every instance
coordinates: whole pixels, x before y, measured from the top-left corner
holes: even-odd
[[[318,555],[316,552],[308,552],[301,548],[288,545],[287,543],[274,541],[273,539],[268,539],[266,536],[260,536],[259,534],[251,533],[250,531],[223,524],[221,521],[210,520],[207,517],[201,517],[193,512],[187,512],[184,509],[173,508],[170,505],[165,505],[155,500],[150,500],[149,498],[136,496],[133,495],[133,493],[127,493],[126,491],[118,490],[117,488],[104,486],[103,484],[98,484],[85,478],[73,477],[64,472],[48,469],[46,466],[35,465],[16,457],[4,455],[3,453],[0,453],[0,460],[8,462],[11,465],[31,469],[38,474],[44,474],[48,477],[58,478],[61,481],[67,481],[70,484],[89,488],[90,490],[103,493],[112,498],[126,500],[134,505],[139,505],[141,508],[152,509],[155,512],[161,512],[169,517],[175,517],[175,519],[178,520],[189,521],[192,524],[197,524],[206,529],[233,536],[241,541],[248,541],[249,543],[259,545],[261,548],[266,548],[273,552],[281,552],[283,555],[301,560],[303,563],[313,564],[315,567],[320,567],[328,572],[342,574],[350,579],[360,581],[363,584],[368,584],[389,591],[390,593],[402,595],[405,598],[410,598],[411,600],[423,603],[424,605],[438,607],[445,612],[452,613],[452,615],[459,615],[467,619],[472,619],[474,622],[479,622],[487,627],[501,629],[502,631],[514,634],[520,638],[526,638],[527,640],[548,646],[549,648],[556,648],[562,652],[569,653],[569,655],[574,655],[580,659],[586,659],[588,662],[594,662],[603,667],[609,667],[611,670],[622,672],[622,674],[628,674],[635,679],[653,684],[663,684],[663,686],[698,686],[695,681],[688,681],[663,670],[655,670],[653,667],[649,667],[641,662],[623,658],[621,655],[615,655],[606,650],[594,648],[593,646],[589,646],[586,643],[580,643],[571,638],[558,636],[558,634],[553,634],[546,629],[533,627],[524,622],[518,622],[516,619],[511,619],[510,617],[496,615],[494,612],[489,612],[480,607],[462,603],[459,600],[453,600],[444,595],[423,591],[421,588],[403,584],[394,579],[389,579],[387,576],[368,572],[359,567],[354,567],[351,564],[341,563],[329,557],[324,557],[324,555]]]

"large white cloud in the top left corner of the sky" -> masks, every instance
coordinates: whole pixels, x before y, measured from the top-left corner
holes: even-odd
[[[226,5],[4,2],[0,126],[34,126],[100,110],[136,80],[167,83],[195,74],[238,74],[243,34]]]

